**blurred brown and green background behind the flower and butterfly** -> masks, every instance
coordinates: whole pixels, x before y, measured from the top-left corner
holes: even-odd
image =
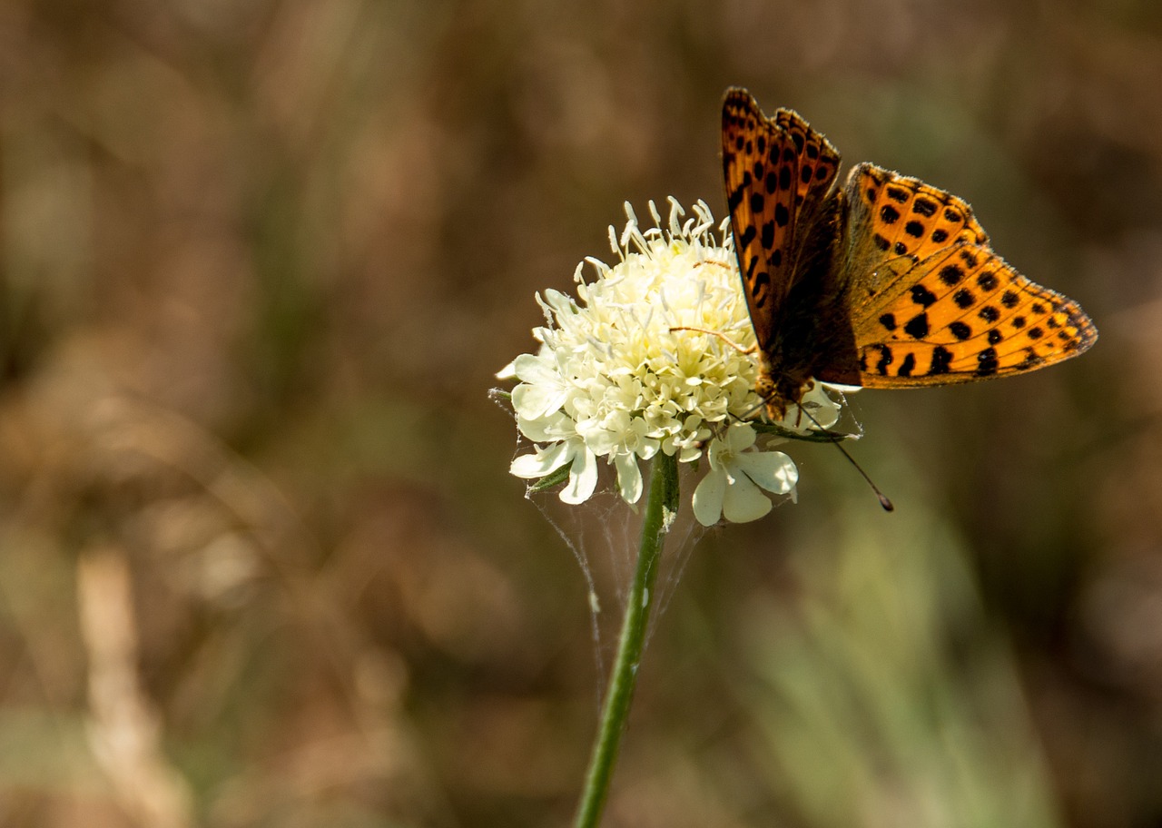
[[[723,214],[729,85],[1102,340],[688,549],[607,825],[1162,825],[1160,79],[1149,0],[0,5],[0,826],[568,822],[624,550],[595,616],[487,390]]]

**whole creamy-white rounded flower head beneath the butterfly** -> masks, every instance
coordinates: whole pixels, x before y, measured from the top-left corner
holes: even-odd
[[[755,416],[762,400],[754,393],[756,367],[747,354],[754,329],[729,224],[716,235],[701,201],[680,223],[684,210],[670,199],[665,229],[653,202],[654,227],[646,230],[625,209],[622,235],[610,228],[617,264],[586,259],[594,273],[588,281],[586,263],[579,265],[576,299],[538,294],[545,326],[533,336],[540,348],[497,374],[518,380],[511,395],[517,428],[536,443],[511,472],[540,478],[568,465],[560,497],[578,504],[595,491],[602,458],[616,470],[622,498],[633,504],[643,490],[638,461],[660,451],[695,463],[706,452],[710,472],[695,495],[698,520],[755,520],[770,509],[759,487],[794,493],[798,472],[783,452],[759,451],[754,429],[738,423]],[[822,384],[803,406],[815,420],[792,407],[786,428],[827,428],[839,417]]]

